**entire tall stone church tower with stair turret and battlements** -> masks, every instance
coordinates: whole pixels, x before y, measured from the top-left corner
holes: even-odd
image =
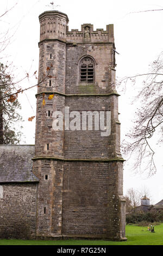
[[[68,31],[60,11],[45,11],[39,20],[36,237],[126,239],[113,25],[93,31],[86,23]],[[78,129],[64,121],[64,129],[55,130],[56,111],[70,123],[77,112],[108,111],[111,131],[102,136],[88,129],[83,116]]]

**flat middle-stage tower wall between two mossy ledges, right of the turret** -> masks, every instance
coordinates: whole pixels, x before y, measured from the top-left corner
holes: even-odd
[[[106,159],[116,157],[116,137],[114,133],[118,113],[115,109],[114,97],[117,96],[71,96],[66,97],[65,104],[70,106],[71,111],[80,112],[80,131],[65,131],[65,158],[70,159]],[[100,121],[100,111],[111,112],[111,134],[101,136],[100,124],[99,131],[95,130],[94,119],[92,118],[93,130],[82,130],[82,111],[98,112]],[[70,119],[72,120],[72,119]],[[100,122],[99,122],[100,123]],[[117,142],[118,143],[118,142]]]

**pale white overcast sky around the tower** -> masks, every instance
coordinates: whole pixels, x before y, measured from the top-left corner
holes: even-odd
[[[50,5],[47,0],[5,0],[0,2],[0,14],[16,6],[9,13],[1,17],[1,31],[9,28],[12,38],[10,45],[3,52],[4,63],[13,62],[15,65],[15,75],[21,78],[26,72],[33,74],[39,66],[39,36],[40,24],[38,16]],[[136,11],[163,9],[162,0],[58,0],[55,5],[60,5],[55,9],[68,15],[69,30],[79,29],[83,23],[93,24],[96,28],[106,29],[106,25],[114,23],[114,35],[116,51],[116,75],[117,78],[143,74],[148,71],[149,64],[162,51],[162,15],[163,11],[149,11],[136,13]],[[12,65],[12,68],[13,68]],[[30,78],[23,81],[21,86],[27,88],[37,81]],[[120,89],[121,90],[121,89]],[[23,123],[22,144],[34,144],[35,120],[28,121],[29,117],[35,115],[36,89],[23,93],[19,99],[22,105],[21,114],[25,120]],[[131,105],[131,100],[136,95],[131,84],[128,84],[127,92],[121,92],[119,97],[119,112],[121,121],[121,137],[125,137],[131,127],[134,117],[135,105]],[[158,135],[155,136],[154,141]],[[130,162],[124,165],[124,194],[127,189],[134,187],[141,190],[146,186],[151,192],[153,203],[163,199],[163,172],[162,172],[162,148],[156,147],[155,161],[157,173],[150,179],[146,179],[145,174],[134,175],[131,172]]]

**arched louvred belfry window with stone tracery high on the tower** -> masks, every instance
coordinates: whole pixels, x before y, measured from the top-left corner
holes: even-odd
[[[80,62],[80,83],[95,82],[95,63],[90,57],[85,57]]]

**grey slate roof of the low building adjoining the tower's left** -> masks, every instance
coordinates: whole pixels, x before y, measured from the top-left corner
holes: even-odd
[[[34,145],[0,145],[0,183],[39,182],[32,173]]]

